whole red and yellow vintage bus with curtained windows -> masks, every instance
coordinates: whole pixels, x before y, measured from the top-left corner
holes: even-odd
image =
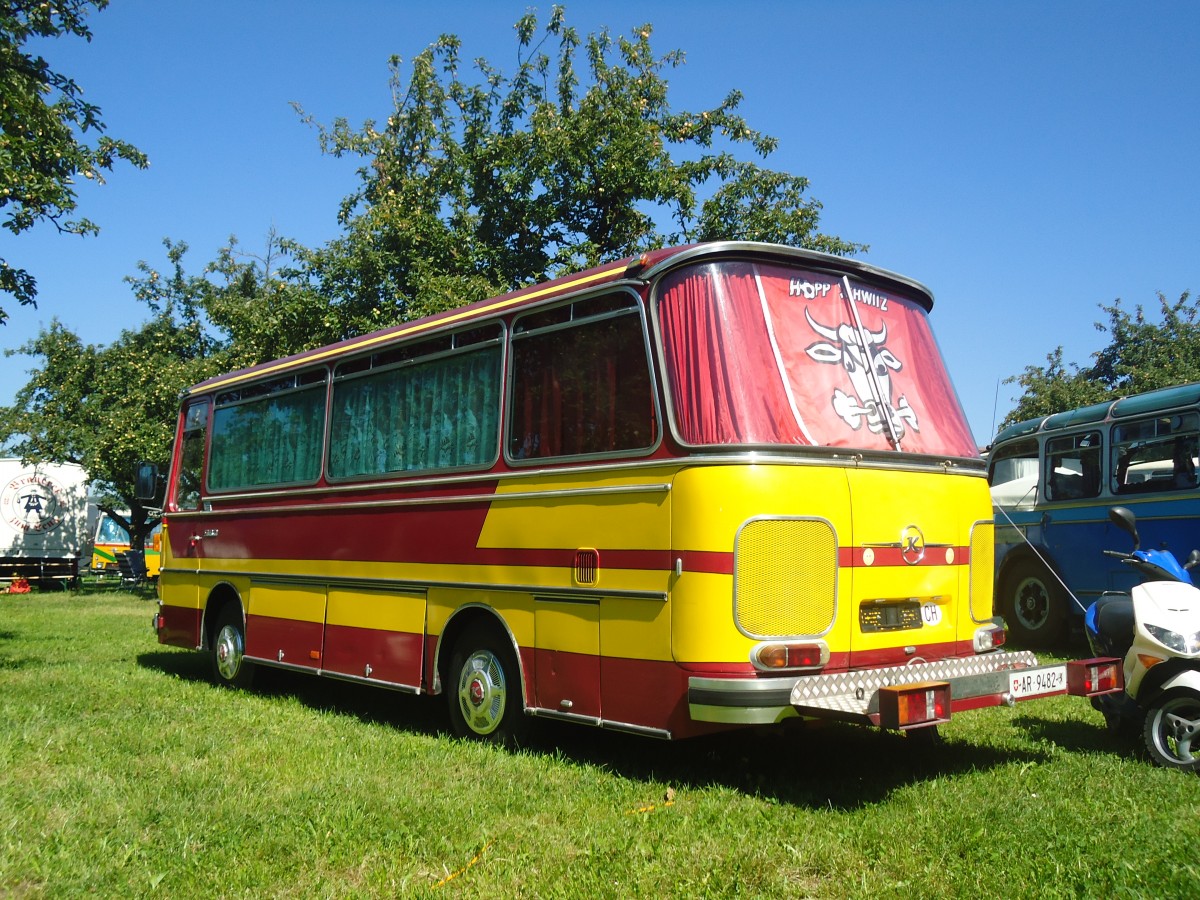
[[[1001,649],[931,306],[857,260],[695,245],[198,384],[158,638],[227,684],[440,694],[503,743],[1114,689],[1111,662]]]

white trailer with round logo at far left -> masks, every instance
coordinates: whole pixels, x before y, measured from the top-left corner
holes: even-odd
[[[0,584],[66,587],[88,542],[88,474],[73,463],[0,457]]]

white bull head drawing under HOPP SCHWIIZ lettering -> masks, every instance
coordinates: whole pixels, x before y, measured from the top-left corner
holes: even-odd
[[[920,431],[917,413],[908,406],[908,400],[901,395],[899,402],[893,403],[892,372],[899,372],[904,364],[884,346],[888,340],[886,324],[878,331],[848,323],[833,328],[818,323],[808,310],[804,318],[824,338],[809,344],[804,352],[817,362],[840,365],[850,376],[854,394],[839,388],[832,397],[834,412],[842,421],[857,431],[865,420],[866,427],[875,434],[887,426],[896,442],[904,438],[908,426]]]

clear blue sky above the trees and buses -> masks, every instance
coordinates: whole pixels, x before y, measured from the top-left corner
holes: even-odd
[[[318,121],[384,119],[388,59],[439,34],[511,72],[524,0],[113,0],[94,40],[47,43],[52,65],[103,110],[150,168],[84,185],[98,238],[41,226],[0,234],[0,256],[38,280],[36,310],[7,299],[0,347],[58,317],[107,343],[146,317],[122,281],[190,269],[229,235],[260,250],[270,229],[319,245],[340,233],[352,161],[320,155]],[[538,4],[542,20],[548,4]],[[745,95],[752,127],[779,138],[772,168],[811,180],[822,229],[928,284],[932,323],[976,439],[1012,408],[1001,382],[1055,347],[1080,364],[1106,342],[1098,305],[1157,310],[1157,292],[1200,290],[1200,4],[568,2],[583,34],[654,26],[676,109]],[[0,403],[26,380],[0,359]]]

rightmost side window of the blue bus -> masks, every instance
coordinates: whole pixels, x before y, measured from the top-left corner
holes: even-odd
[[[1196,486],[1200,415],[1183,414],[1112,428],[1112,491],[1146,493]]]

